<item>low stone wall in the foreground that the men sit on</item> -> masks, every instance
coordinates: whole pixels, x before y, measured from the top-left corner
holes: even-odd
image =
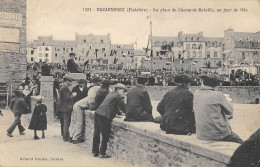
[[[86,148],[92,149],[94,111],[85,111]],[[201,141],[196,135],[165,134],[159,124],[115,118],[107,153],[134,166],[224,167],[237,143]]]

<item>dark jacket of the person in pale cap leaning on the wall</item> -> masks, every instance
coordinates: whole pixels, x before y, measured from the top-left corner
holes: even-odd
[[[102,104],[96,110],[96,114],[102,115],[109,120],[113,120],[116,114],[120,114],[119,109],[125,113],[125,103],[118,92],[109,93]]]

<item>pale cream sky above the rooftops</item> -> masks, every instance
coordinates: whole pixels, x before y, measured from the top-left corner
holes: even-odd
[[[91,8],[91,12],[83,8]],[[124,8],[125,11],[100,12],[97,8]],[[127,8],[148,11],[127,12]],[[173,8],[177,12],[172,12]],[[179,11],[199,8],[212,8],[215,12]],[[224,8],[231,11],[223,12]],[[27,0],[27,41],[49,35],[54,40],[75,40],[76,32],[79,35],[111,33],[112,44],[137,41],[137,48],[141,49],[147,45],[150,21],[153,36],[203,31],[205,37],[223,37],[228,28],[237,32],[260,31],[259,9],[260,0]],[[147,16],[151,17],[147,19]]]

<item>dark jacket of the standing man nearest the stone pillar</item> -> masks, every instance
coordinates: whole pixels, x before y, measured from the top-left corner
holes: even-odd
[[[73,110],[73,95],[66,85],[63,85],[59,91],[59,112],[72,112]]]

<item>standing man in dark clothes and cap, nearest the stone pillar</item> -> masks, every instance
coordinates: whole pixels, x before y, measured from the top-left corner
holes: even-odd
[[[74,97],[76,93],[72,92],[69,89],[69,86],[72,84],[73,79],[70,77],[63,78],[64,84],[60,88],[59,94],[59,115],[61,123],[61,134],[63,136],[63,141],[68,142],[70,139],[69,135],[69,126],[71,122],[71,112],[73,110]]]

